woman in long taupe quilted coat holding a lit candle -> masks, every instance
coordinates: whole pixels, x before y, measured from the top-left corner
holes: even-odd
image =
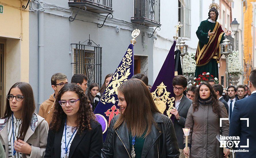
[[[217,96],[208,82],[202,82],[196,90],[192,105],[188,110],[185,128],[190,128],[188,136],[189,149],[184,148],[184,155],[190,158],[223,158],[230,154],[230,150],[220,147],[216,136],[228,136],[227,110],[223,103],[218,101]],[[185,144],[185,136],[184,136]]]

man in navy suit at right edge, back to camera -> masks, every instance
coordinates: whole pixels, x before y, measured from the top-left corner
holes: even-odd
[[[238,148],[235,149],[249,151],[236,152],[236,157],[256,156],[256,69],[251,71],[249,80],[249,89],[252,92],[251,96],[235,102],[230,120],[229,136],[240,137]],[[248,118],[249,120],[240,120],[240,118]],[[241,145],[249,146],[241,147]]]

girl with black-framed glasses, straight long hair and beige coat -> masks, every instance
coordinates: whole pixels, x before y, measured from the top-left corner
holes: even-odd
[[[0,119],[0,141],[5,157],[45,155],[49,128],[44,118],[34,111],[32,87],[26,82],[17,82],[8,92],[4,117]]]

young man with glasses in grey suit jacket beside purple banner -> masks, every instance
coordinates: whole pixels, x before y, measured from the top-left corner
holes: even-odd
[[[185,158],[183,154],[183,130],[188,114],[188,109],[192,104],[192,100],[188,99],[183,93],[187,89],[188,81],[182,76],[178,75],[173,78],[173,92],[175,94],[175,109],[171,110],[171,114],[175,115],[173,122],[175,133],[179,144],[180,158]]]

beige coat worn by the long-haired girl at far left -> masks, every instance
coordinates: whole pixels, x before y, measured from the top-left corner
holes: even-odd
[[[0,124],[0,141],[5,145],[5,156],[8,157],[8,122],[11,119],[0,119],[4,121]],[[34,127],[32,122],[30,128],[28,128],[24,141],[31,145],[31,154],[22,154],[22,157],[26,158],[43,158],[45,155],[45,148],[47,144],[48,136],[48,124],[41,116],[33,114],[32,120],[37,120],[37,126]],[[2,122],[1,121],[1,122]]]

